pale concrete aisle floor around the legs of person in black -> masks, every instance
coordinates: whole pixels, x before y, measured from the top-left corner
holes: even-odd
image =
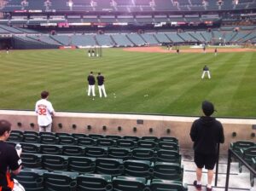
[[[194,153],[191,150],[182,150],[181,154],[183,156],[183,182],[187,183],[189,191],[196,190],[193,186],[195,181],[195,163],[194,163]],[[227,155],[220,155],[219,165],[218,165],[218,184],[217,187],[213,187],[212,190],[215,191],[224,191],[225,182],[226,182],[226,171],[227,171]],[[202,176],[202,190],[206,190],[207,185],[207,170],[203,170]],[[215,180],[212,182],[214,184]],[[256,178],[254,179],[254,186],[251,187],[250,184],[250,174],[245,167],[242,168],[242,172],[238,171],[238,163],[232,162],[230,166],[230,182],[229,190],[238,191],[238,190],[249,190],[256,191]]]

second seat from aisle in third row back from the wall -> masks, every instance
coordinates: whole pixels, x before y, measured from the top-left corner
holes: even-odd
[[[131,151],[132,159],[143,159],[154,161],[155,153],[154,150],[146,149],[146,148],[134,148]]]

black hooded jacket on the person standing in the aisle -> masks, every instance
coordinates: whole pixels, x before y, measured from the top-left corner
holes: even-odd
[[[192,124],[190,137],[196,153],[214,154],[217,144],[224,143],[223,126],[215,118],[202,116]]]

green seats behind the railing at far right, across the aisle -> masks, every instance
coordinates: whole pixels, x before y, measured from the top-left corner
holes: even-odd
[[[248,142],[248,141],[238,141],[232,142],[230,144],[230,148],[241,156],[248,165],[251,165],[253,169],[256,171],[256,142]],[[242,171],[242,164],[238,162],[239,172]],[[254,185],[254,176],[251,173],[250,175],[250,182],[253,187]]]

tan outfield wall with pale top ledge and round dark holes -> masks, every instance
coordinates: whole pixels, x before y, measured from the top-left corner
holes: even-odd
[[[9,120],[13,124],[12,130],[38,131],[37,116],[34,112],[0,110],[0,119]],[[192,148],[193,143],[190,140],[189,131],[195,119],[197,118],[58,112],[54,117],[53,131],[119,136],[175,136],[181,148]],[[218,120],[224,125],[225,143],[221,146],[223,153],[230,147],[230,142],[238,140],[256,142],[256,119]]]

